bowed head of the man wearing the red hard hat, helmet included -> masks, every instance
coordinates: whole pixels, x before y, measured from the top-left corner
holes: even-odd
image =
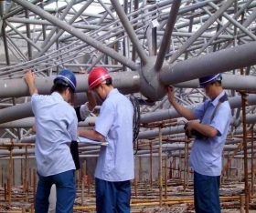
[[[112,90],[112,77],[104,67],[98,66],[91,70],[88,85],[89,90],[95,91],[104,100]]]

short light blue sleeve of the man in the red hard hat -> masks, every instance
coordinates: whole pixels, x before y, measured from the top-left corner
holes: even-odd
[[[103,137],[107,137],[114,121],[114,109],[112,106],[101,106],[101,113],[95,123],[95,131]]]

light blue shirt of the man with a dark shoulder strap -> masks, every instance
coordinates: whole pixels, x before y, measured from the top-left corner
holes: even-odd
[[[229,101],[221,103],[212,121],[211,116],[219,103],[219,98],[223,95],[224,91],[213,101],[207,100],[193,110],[193,114],[202,121],[202,124],[218,130],[216,137],[208,137],[205,141],[195,139],[190,153],[189,167],[205,176],[220,176],[221,173],[221,154],[228,134],[231,116]],[[205,110],[206,112],[204,112]]]

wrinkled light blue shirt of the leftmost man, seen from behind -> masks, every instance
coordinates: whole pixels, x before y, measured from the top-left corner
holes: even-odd
[[[31,99],[36,120],[37,172],[44,177],[75,169],[69,145],[77,140],[76,112],[59,93],[35,94]]]

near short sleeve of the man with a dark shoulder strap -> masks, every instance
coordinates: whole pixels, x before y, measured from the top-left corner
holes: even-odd
[[[230,108],[227,106],[219,106],[213,120],[210,123],[210,127],[214,127],[218,130],[218,137],[221,137],[230,124]]]

